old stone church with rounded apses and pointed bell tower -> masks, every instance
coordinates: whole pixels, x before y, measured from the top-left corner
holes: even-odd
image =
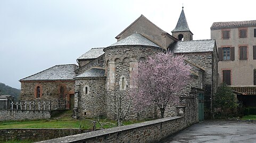
[[[133,88],[138,62],[155,53],[171,51],[175,55],[185,55],[185,62],[192,66],[193,80],[178,94],[191,97],[202,93],[204,114],[208,116],[217,88],[216,42],[193,40],[183,9],[171,33],[163,31],[141,15],[115,37],[116,43],[104,48],[92,48],[81,55],[77,59],[78,66],[56,65],[20,79],[21,100],[66,99],[68,108],[74,109],[77,117],[114,117],[112,97]],[[131,110],[130,114],[133,113]],[[159,111],[155,108],[146,113],[147,117],[158,115]],[[174,115],[173,106],[168,106],[166,117]]]

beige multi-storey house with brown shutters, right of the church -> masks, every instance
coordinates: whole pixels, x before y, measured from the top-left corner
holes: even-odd
[[[218,83],[226,83],[245,106],[256,106],[256,20],[214,22],[219,53]]]

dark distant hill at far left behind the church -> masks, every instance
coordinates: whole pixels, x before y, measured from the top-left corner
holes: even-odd
[[[20,99],[20,90],[0,83],[0,95],[12,95],[14,100],[18,101]]]

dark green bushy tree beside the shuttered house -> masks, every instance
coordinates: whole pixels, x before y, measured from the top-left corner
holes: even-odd
[[[238,106],[237,98],[227,84],[222,83],[214,97],[214,108],[221,109],[221,118],[226,119],[228,111],[236,109]]]

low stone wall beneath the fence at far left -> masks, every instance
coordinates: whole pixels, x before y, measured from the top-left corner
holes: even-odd
[[[51,111],[48,110],[0,110],[0,121],[48,118],[51,118]]]

